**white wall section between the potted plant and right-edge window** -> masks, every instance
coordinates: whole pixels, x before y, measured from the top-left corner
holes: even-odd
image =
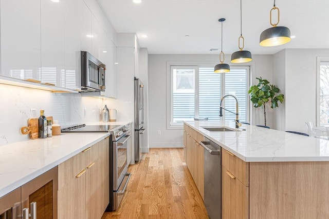
[[[286,130],[306,132],[306,121],[316,124],[317,57],[329,49],[286,49]]]

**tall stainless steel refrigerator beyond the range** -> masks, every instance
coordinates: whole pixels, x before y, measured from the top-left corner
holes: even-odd
[[[135,77],[135,161],[140,161],[144,143],[144,85]]]

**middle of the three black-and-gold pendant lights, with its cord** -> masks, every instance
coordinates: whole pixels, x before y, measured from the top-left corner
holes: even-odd
[[[240,31],[241,35],[239,37],[239,51],[233,52],[231,55],[231,63],[247,63],[252,60],[251,52],[243,50],[245,46],[245,38],[242,36],[242,0],[240,0]],[[240,45],[242,41],[242,47]]]

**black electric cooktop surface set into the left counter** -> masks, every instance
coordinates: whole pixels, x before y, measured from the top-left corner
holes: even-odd
[[[75,125],[62,128],[61,132],[109,132],[112,129],[119,127],[119,125]]]

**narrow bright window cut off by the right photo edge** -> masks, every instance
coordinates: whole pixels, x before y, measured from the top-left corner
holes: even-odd
[[[318,58],[318,124],[329,125],[329,57]]]

